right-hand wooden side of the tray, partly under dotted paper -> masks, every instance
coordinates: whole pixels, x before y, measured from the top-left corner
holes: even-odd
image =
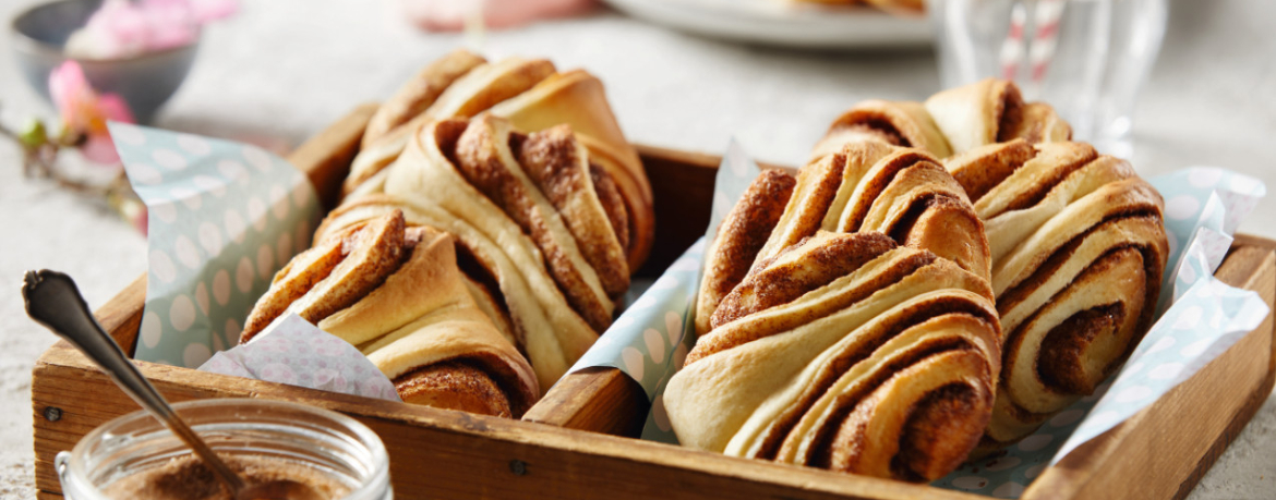
[[[1271,245],[1271,242],[1267,242]],[[1216,276],[1276,298],[1271,246],[1245,246]],[[1040,499],[1182,499],[1272,390],[1272,315],[1147,409],[1048,468],[1025,492]]]

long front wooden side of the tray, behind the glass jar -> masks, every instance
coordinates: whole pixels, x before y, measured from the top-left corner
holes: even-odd
[[[347,413],[371,427],[390,455],[398,499],[979,499],[896,481],[777,466],[547,425],[404,406],[139,362],[171,401],[253,397]],[[36,421],[42,497],[61,489],[52,468],[96,426],[137,404],[88,360],[55,346],[36,367],[32,399],[57,406],[57,421]],[[74,388],[74,389],[69,389]]]

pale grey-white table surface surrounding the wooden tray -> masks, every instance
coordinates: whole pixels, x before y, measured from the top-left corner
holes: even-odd
[[[0,3],[9,19],[29,0]],[[397,3],[272,0],[205,32],[199,60],[157,125],[299,144],[355,105],[388,96],[425,62],[464,43],[397,19]],[[1169,34],[1136,115],[1134,165],[1155,175],[1226,166],[1276,189],[1276,3],[1171,5]],[[8,26],[8,22],[5,22]],[[827,124],[865,98],[920,99],[938,91],[929,51],[796,52],[697,38],[596,14],[487,33],[489,56],[547,56],[607,85],[628,136],[721,152],[736,136],[760,159],[795,163]],[[0,116],[51,116],[0,40]],[[22,272],[70,273],[91,306],[145,270],[145,241],[102,203],[23,180],[0,143],[0,497],[34,497],[31,369],[54,335],[26,318]],[[1271,200],[1242,231],[1276,236]],[[1189,432],[1191,430],[1184,430]],[[1276,496],[1276,398],[1270,398],[1191,499]]]

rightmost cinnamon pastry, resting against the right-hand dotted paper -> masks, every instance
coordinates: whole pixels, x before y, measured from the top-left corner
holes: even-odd
[[[1125,361],[1151,325],[1162,200],[1088,144],[1016,139],[949,158],[984,219],[1004,357],[991,450],[1031,434]]]

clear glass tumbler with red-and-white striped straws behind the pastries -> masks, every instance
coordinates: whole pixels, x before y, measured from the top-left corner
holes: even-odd
[[[1073,138],[1129,157],[1138,89],[1165,34],[1165,0],[930,0],[944,88],[1012,79]]]

